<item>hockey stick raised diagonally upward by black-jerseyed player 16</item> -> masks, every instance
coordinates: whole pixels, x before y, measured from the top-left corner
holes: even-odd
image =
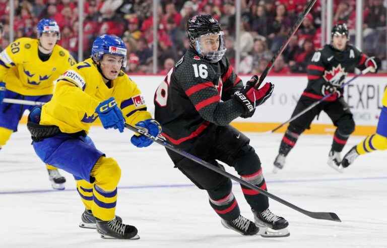
[[[276,59],[281,55],[281,53],[285,50],[286,46],[288,45],[288,43],[290,42],[290,38],[297,32],[297,29],[299,28],[299,26],[301,25],[301,23],[303,22],[303,20],[305,19],[306,15],[309,13],[310,9],[313,7],[313,5],[316,3],[317,0],[311,0],[309,1],[309,3],[306,5],[304,11],[302,12],[302,14],[300,14],[300,16],[298,17],[297,19],[297,22],[294,24],[294,26],[292,27],[292,29],[290,30],[288,36],[286,37],[286,40],[285,42],[282,44],[282,46],[280,47],[280,49],[277,51],[276,54],[274,54],[274,56],[272,57],[272,60],[269,62],[269,64],[266,66],[265,68],[265,71],[261,74],[258,82],[256,82],[255,84],[255,88],[258,88],[260,87],[260,85],[262,84],[262,82],[264,82],[264,79],[266,78],[266,76],[268,76],[268,73],[270,70],[272,70],[273,66],[274,66],[274,62],[276,61]]]

